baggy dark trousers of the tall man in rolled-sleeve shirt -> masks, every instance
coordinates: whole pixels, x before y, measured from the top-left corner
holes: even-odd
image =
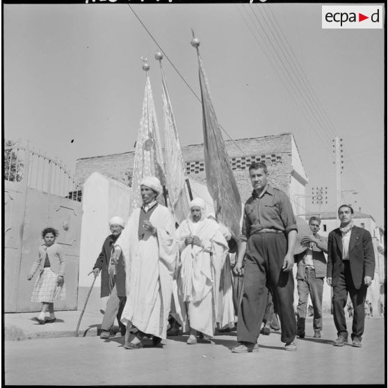
[[[267,302],[267,284],[273,291],[282,328],[281,341],[296,336],[293,311],[293,273],[282,270],[287,250],[284,233],[252,234],[247,241],[243,300],[237,322],[237,341],[256,343]]]

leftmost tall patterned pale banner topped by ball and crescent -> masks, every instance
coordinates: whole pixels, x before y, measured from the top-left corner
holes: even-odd
[[[147,60],[146,58],[144,60]],[[140,181],[144,177],[157,177],[162,186],[165,186],[165,171],[159,127],[156,120],[154,99],[152,97],[151,82],[149,81],[149,65],[145,63],[143,70],[146,72],[145,92],[143,100],[143,113],[135,147],[134,170],[132,171],[132,191],[129,215],[142,204],[140,196]],[[158,198],[164,204],[163,196]]]

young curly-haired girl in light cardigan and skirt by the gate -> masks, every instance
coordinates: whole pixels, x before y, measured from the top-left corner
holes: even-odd
[[[63,250],[55,242],[58,231],[52,227],[42,230],[42,239],[45,240],[39,247],[39,257],[33,262],[27,280],[31,280],[35,272],[39,269],[39,277],[33,287],[31,302],[42,302],[42,311],[39,316],[33,319],[44,325],[55,321],[54,300],[65,300],[66,289],[63,283],[65,273],[65,255]],[[45,320],[45,315],[49,310],[50,318]]]

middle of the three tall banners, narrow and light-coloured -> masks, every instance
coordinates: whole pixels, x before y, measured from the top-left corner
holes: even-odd
[[[190,207],[188,205],[187,194],[185,190],[185,163],[181,152],[181,143],[177,124],[170,96],[168,95],[167,84],[161,60],[163,55],[156,53],[155,58],[161,65],[162,76],[162,98],[163,98],[163,118],[164,118],[164,148],[165,148],[165,180],[168,188],[168,198],[171,204],[171,210],[177,223],[181,223],[188,215]]]

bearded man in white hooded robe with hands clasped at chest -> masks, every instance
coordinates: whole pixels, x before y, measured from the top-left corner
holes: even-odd
[[[187,343],[197,343],[196,334],[213,337],[216,327],[215,266],[228,250],[227,241],[216,221],[206,218],[204,200],[195,198],[190,216],[179,225],[180,268],[177,275],[175,307],[183,331],[190,330]]]

